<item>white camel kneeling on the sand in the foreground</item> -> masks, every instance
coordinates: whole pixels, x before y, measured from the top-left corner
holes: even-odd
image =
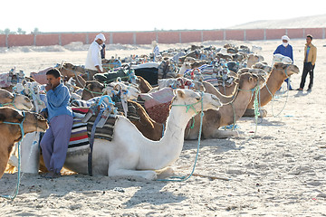
[[[172,165],[181,153],[188,120],[203,108],[218,109],[222,104],[212,94],[176,90],[164,137],[151,141],[129,119],[117,118],[112,141],[95,138],[92,151],[92,174],[157,178],[155,170],[172,173]],[[194,109],[187,109],[188,106]],[[128,135],[128,137],[126,137]],[[88,156],[68,156],[64,166],[88,174]]]

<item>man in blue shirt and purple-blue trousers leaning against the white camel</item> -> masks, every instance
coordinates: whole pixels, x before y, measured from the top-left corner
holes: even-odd
[[[43,160],[49,173],[45,178],[60,177],[69,140],[72,134],[72,109],[69,107],[71,95],[61,82],[61,74],[57,69],[46,72],[46,108],[41,115],[49,121],[49,128],[41,140]]]

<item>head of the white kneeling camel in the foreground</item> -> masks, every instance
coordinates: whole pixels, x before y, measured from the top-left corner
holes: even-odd
[[[220,99],[216,95],[210,93],[197,92],[194,90],[174,90],[175,98],[172,100],[172,107],[177,105],[185,105],[187,112],[196,114],[201,111],[201,100],[203,100],[203,110],[218,109],[222,106]],[[192,106],[187,109],[187,106]],[[180,106],[177,106],[180,107]],[[196,112],[194,111],[194,108]]]

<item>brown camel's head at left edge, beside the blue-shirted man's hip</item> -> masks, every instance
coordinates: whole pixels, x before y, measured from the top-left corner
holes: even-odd
[[[44,132],[49,127],[46,119],[37,113],[31,111],[21,111],[8,107],[0,108],[0,123],[22,123],[22,121],[25,134],[32,133],[34,131]]]

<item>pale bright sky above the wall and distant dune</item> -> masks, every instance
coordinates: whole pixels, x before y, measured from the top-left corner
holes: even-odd
[[[4,0],[0,11],[0,30],[26,33],[211,30],[326,14],[322,0]]]

